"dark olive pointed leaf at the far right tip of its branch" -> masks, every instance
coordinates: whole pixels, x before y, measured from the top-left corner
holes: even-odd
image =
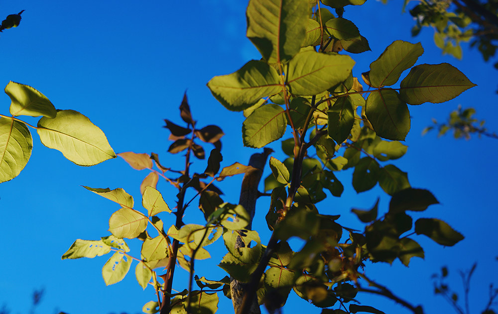
[[[444,103],[477,86],[448,63],[413,67],[401,81],[399,96],[410,105]]]

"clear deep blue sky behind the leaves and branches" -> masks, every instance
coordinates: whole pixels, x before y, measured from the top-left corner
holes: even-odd
[[[423,305],[426,313],[453,313],[441,297],[433,296],[430,276],[441,266],[450,265],[451,286],[460,288],[457,270],[468,269],[477,261],[471,291],[472,313],[477,314],[487,302],[489,283],[498,283],[498,141],[477,137],[457,141],[450,136],[437,138],[435,133],[422,137],[421,131],[432,117],[443,120],[459,104],[476,107],[478,117],[487,120],[489,129],[498,130],[498,72],[467,46],[462,61],[442,56],[434,46],[430,29],[411,38],[413,22],[409,14],[401,14],[401,2],[385,6],[368,0],[363,6],[346,8],[345,17],[357,24],[372,48],[371,52],[354,56],[357,63],[353,72],[360,76],[392,41],[404,39],[422,42],[425,53],[419,64],[451,63],[478,84],[445,104],[410,106],[408,153],[395,162],[408,172],[413,187],[432,191],[441,203],[414,217],[441,218],[466,239],[443,248],[418,236],[425,260],[412,259],[410,268],[396,261],[392,266],[376,264],[367,269],[371,277],[402,298]],[[245,38],[246,5],[246,1],[233,0],[9,1],[2,4],[0,17],[22,9],[25,12],[18,28],[0,34],[0,85],[9,81],[30,85],[56,108],[87,115],[106,133],[117,153],[156,152],[168,166],[180,165],[181,158],[167,154],[169,133],[162,128],[163,119],[180,122],[178,106],[188,90],[199,125],[217,124],[226,133],[222,139],[223,166],[235,161],[247,163],[255,150],[243,147],[242,113],[225,110],[206,87],[213,76],[232,73],[250,59],[260,58]],[[0,102],[0,113],[8,114],[8,96],[4,95]],[[26,121],[36,124],[37,119]],[[121,158],[95,167],[79,167],[60,152],[44,147],[37,134],[33,139],[34,149],[26,168],[17,178],[0,185],[0,309],[6,304],[13,314],[28,313],[32,291],[44,287],[37,313],[141,313],[142,305],[155,296],[151,288],[142,291],[137,285],[135,264],[123,282],[106,287],[101,269],[107,256],[64,261],[60,257],[77,238],[90,240],[108,235],[108,219],[119,209],[81,185],[124,188],[139,205],[139,185],[146,173],[131,169]],[[279,145],[271,146],[277,151],[274,156],[282,159]],[[205,164],[196,162],[194,167],[203,171]],[[264,176],[268,173],[267,169]],[[340,174],[345,185],[343,197],[330,197],[323,208],[331,208],[327,213],[342,214],[340,223],[360,228],[363,225],[350,209],[369,208],[380,196],[383,212],[389,198],[378,188],[356,194],[351,175],[351,171]],[[220,184],[226,201],[238,202],[241,180],[242,177],[231,178]],[[174,189],[164,182],[158,187],[174,207]],[[197,202],[193,204],[185,218],[190,222],[199,217]],[[262,200],[255,219],[262,222],[263,243],[269,237],[264,227],[266,211],[267,200]],[[168,223],[173,223],[173,217],[165,221]],[[132,253],[139,255],[139,245],[131,245]],[[221,240],[214,246],[222,249]],[[198,264],[199,275],[210,279],[224,276],[216,266],[222,256],[218,252],[221,250],[215,249],[211,260]],[[186,272],[178,269],[175,275],[174,287],[181,291],[187,285]],[[365,296],[359,300],[388,314],[408,313],[387,299]],[[297,309],[320,313],[320,309],[297,297],[288,302],[284,313]],[[224,297],[220,298],[220,309],[220,313],[233,311],[231,302]]]

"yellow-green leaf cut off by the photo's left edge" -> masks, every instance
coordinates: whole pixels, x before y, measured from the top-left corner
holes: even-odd
[[[0,118],[0,183],[17,177],[32,149],[33,138],[24,123]]]

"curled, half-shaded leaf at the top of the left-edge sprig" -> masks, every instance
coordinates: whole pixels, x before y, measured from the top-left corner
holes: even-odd
[[[56,110],[45,95],[41,94],[31,86],[8,82],[5,87],[5,94],[10,97],[10,114],[46,116],[54,118]]]

